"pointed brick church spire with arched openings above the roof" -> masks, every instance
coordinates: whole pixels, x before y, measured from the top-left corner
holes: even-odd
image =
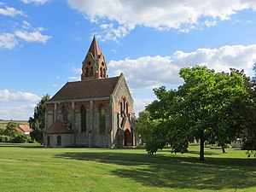
[[[108,68],[102,50],[94,36],[90,44],[87,55],[82,62],[81,80],[86,79],[106,79],[108,78]]]

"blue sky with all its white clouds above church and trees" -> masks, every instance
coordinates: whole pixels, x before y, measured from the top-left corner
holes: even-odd
[[[0,0],[0,119],[26,120],[42,96],[79,80],[94,31],[136,113],[154,87],[182,84],[182,67],[253,75],[254,0]]]

